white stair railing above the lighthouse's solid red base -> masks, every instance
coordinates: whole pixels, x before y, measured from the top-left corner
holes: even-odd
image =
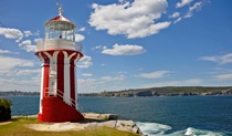
[[[54,91],[54,88],[52,88],[52,87],[46,87],[46,88],[44,88],[43,96],[44,97],[59,97],[59,98],[63,100],[63,102],[65,102],[66,104],[71,105],[72,107],[77,108],[75,100],[73,100],[72,97],[65,96],[64,93],[59,90]],[[66,100],[68,100],[68,101],[66,101]]]

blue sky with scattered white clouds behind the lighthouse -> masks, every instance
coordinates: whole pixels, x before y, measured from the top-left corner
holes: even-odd
[[[0,91],[39,92],[44,22],[77,25],[80,93],[232,86],[231,0],[0,0]]]

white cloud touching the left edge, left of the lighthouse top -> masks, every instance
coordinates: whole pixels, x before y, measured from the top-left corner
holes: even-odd
[[[11,28],[0,28],[0,35],[3,35],[7,39],[17,39],[17,42],[19,42],[23,33],[18,29],[11,29]]]

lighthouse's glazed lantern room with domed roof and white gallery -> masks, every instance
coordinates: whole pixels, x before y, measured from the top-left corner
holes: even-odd
[[[60,14],[52,18],[45,25],[45,39],[38,41],[36,51],[44,50],[72,50],[82,52],[82,44],[75,41],[76,25],[63,17],[62,8]]]

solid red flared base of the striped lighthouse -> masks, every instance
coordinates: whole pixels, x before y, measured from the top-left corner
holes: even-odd
[[[44,97],[42,113],[38,114],[39,122],[60,123],[83,121],[84,116],[59,97]]]

